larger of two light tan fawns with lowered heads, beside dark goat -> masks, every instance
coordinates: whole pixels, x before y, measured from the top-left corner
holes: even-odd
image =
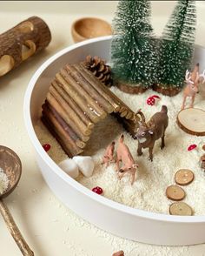
[[[120,161],[122,161],[122,167],[120,168]],[[116,171],[118,172],[118,178],[122,177],[129,173],[130,175],[130,184],[133,185],[136,178],[136,169],[139,166],[135,163],[129,148],[124,144],[124,135],[122,134],[119,138],[117,149],[116,149]]]

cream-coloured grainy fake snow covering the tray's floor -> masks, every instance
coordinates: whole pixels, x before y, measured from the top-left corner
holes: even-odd
[[[101,186],[104,197],[121,204],[149,212],[169,214],[169,205],[172,201],[166,197],[166,188],[169,185],[175,185],[175,172],[179,169],[190,169],[195,173],[195,179],[190,185],[183,186],[186,192],[183,201],[193,208],[195,215],[205,215],[205,204],[203,203],[205,177],[200,168],[200,157],[204,153],[202,145],[205,144],[205,138],[188,135],[176,124],[176,116],[182,105],[182,92],[173,98],[160,95],[162,99],[154,106],[149,106],[146,100],[153,95],[154,92],[151,90],[142,95],[129,95],[115,87],[112,87],[111,90],[133,111],[142,108],[147,121],[156,111],[161,110],[162,104],[168,106],[169,127],[165,135],[165,148],[161,150],[161,139],[159,139],[155,143],[153,162],[149,161],[148,149],[144,149],[142,156],[138,157],[136,155],[137,141],[124,131],[116,118],[110,116],[96,125],[83,152],[84,156],[90,155],[95,161],[96,167],[93,175],[86,178],[80,174],[77,180],[90,190],[96,185]],[[195,107],[205,109],[205,101],[200,94],[196,95]],[[42,144],[52,145],[52,150],[48,153],[57,164],[68,158],[57,144],[56,139],[50,135],[40,121],[35,129]],[[106,146],[113,140],[117,142],[122,132],[125,135],[125,144],[129,146],[130,152],[139,165],[136,182],[132,186],[129,185],[129,176],[125,176],[122,180],[117,179],[115,164],[109,165],[107,169],[102,166],[102,155]],[[198,145],[198,147],[188,152],[188,145],[192,144]]]

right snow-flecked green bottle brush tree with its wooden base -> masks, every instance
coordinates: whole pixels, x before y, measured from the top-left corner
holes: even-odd
[[[179,0],[159,44],[155,91],[174,96],[182,90],[195,44],[195,1]]]

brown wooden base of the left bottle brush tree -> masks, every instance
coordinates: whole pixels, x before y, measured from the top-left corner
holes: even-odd
[[[148,88],[144,88],[141,84],[129,84],[122,81],[117,81],[115,85],[121,91],[129,94],[141,94],[148,90]]]

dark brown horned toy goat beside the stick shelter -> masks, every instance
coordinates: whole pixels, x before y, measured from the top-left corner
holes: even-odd
[[[161,149],[165,146],[165,131],[169,125],[168,108],[166,105],[162,105],[162,110],[156,112],[147,124],[141,110],[137,111],[136,114],[142,117],[142,122],[139,122],[139,129],[134,136],[134,138],[138,140],[137,154],[141,156],[142,148],[149,148],[149,159],[153,161],[155,141],[162,138]]]

